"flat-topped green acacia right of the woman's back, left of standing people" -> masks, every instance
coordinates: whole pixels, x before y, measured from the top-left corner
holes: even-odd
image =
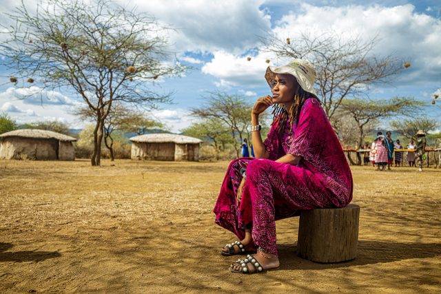
[[[351,116],[358,126],[358,146],[362,146],[367,133],[376,127],[380,119],[393,116],[412,116],[426,105],[413,97],[393,97],[389,100],[369,101],[360,98],[347,98],[342,101],[339,111]],[[360,154],[357,153],[357,164],[361,165]]]

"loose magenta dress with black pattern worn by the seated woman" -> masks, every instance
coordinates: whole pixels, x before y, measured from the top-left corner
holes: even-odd
[[[288,122],[289,123],[289,122]],[[315,98],[302,107],[292,131],[271,127],[265,140],[269,159],[240,158],[228,167],[214,207],[216,224],[235,233],[252,224],[256,246],[277,254],[276,220],[298,216],[301,210],[345,207],[352,199],[351,170],[325,112]],[[302,156],[298,166],[275,162],[286,154]],[[236,194],[246,169],[242,201]]]

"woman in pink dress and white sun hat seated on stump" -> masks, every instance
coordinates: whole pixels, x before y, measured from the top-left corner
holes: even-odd
[[[314,91],[312,65],[294,59],[268,67],[265,78],[272,97],[259,98],[251,114],[256,158],[229,165],[214,207],[216,223],[240,240],[220,252],[257,251],[231,264],[234,273],[279,268],[276,220],[298,216],[301,210],[345,207],[352,199],[351,170]],[[258,118],[271,106],[274,121],[263,142]]]

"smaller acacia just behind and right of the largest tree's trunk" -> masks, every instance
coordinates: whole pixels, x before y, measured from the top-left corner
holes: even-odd
[[[94,112],[84,105],[78,107],[72,114],[79,116],[80,120],[94,120]],[[156,129],[163,129],[163,123],[154,120],[147,114],[136,109],[127,108],[122,103],[114,103],[109,114],[106,116],[103,123],[103,141],[105,147],[110,152],[110,161],[114,161],[114,138],[115,132],[136,133],[139,135],[145,134],[147,131],[154,131]]]

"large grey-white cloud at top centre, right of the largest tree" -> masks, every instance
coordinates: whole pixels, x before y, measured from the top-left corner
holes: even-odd
[[[177,51],[226,50],[236,54],[254,46],[262,30],[271,30],[270,17],[259,9],[263,3],[265,0],[132,2],[176,28],[170,32],[170,43]]]

